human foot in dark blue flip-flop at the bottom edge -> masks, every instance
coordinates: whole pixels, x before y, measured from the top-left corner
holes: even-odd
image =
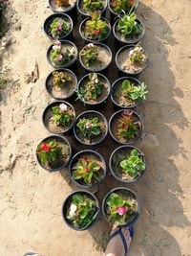
[[[134,236],[134,228],[116,228],[110,235],[110,242],[107,245],[105,256],[125,256]]]

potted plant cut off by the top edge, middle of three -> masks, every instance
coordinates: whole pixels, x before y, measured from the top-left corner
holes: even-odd
[[[92,16],[95,11],[105,14],[107,8],[107,0],[77,0],[77,10],[83,17]]]

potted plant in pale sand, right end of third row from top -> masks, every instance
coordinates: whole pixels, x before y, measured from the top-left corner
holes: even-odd
[[[126,45],[117,52],[117,68],[128,75],[138,75],[147,66],[148,57],[144,49],[139,45]]]

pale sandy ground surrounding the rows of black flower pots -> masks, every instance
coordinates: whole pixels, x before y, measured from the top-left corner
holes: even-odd
[[[13,25],[7,41],[1,41],[0,64],[11,70],[11,83],[1,105],[0,255],[22,256],[33,250],[46,256],[99,256],[107,242],[106,221],[101,218],[87,232],[68,228],[61,218],[63,199],[74,188],[67,171],[49,174],[35,161],[36,144],[49,135],[41,123],[51,101],[44,86],[52,71],[46,60],[50,41],[42,30],[52,13],[47,5],[45,0],[11,1]],[[145,122],[138,147],[146,154],[148,171],[129,186],[141,201],[129,255],[190,256],[191,1],[144,0],[138,14],[146,25],[143,45],[150,58],[141,76],[149,95],[138,107]],[[39,78],[29,82],[35,63]],[[105,157],[109,146],[103,144]],[[108,176],[98,198],[116,185]]]

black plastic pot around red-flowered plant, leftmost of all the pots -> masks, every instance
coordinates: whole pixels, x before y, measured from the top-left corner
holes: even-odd
[[[37,159],[38,164],[39,164],[43,169],[45,169],[46,171],[49,171],[49,172],[53,173],[53,172],[58,172],[58,171],[63,170],[63,169],[68,165],[68,163],[70,162],[71,156],[72,156],[72,148],[71,148],[71,145],[70,145],[69,141],[68,141],[65,137],[58,136],[58,135],[52,135],[52,136],[46,137],[46,138],[45,138],[44,140],[42,140],[39,144],[41,144],[41,143],[46,143],[46,142],[48,142],[48,141],[50,141],[50,140],[55,140],[55,141],[57,141],[57,142],[59,142],[59,143],[63,143],[63,144],[65,144],[65,145],[67,145],[67,146],[69,147],[69,150],[70,150],[70,154],[69,154],[69,157],[68,157],[67,162],[66,162],[65,164],[63,164],[62,166],[57,167],[57,168],[55,168],[55,169],[50,169],[50,168],[47,168],[47,167],[43,166],[43,165],[41,164],[40,160],[39,160],[38,154],[36,153],[36,159]]]

